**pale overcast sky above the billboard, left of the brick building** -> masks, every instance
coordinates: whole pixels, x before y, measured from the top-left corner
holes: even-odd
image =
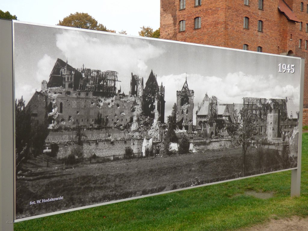
[[[2,0],[0,10],[9,11],[20,21],[49,25],[58,24],[76,11],[84,12],[107,29],[126,30],[130,35],[138,35],[142,26],[151,26],[154,30],[160,26],[160,0]]]

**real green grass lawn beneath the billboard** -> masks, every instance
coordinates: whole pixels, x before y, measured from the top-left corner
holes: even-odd
[[[22,221],[35,230],[236,230],[270,219],[308,215],[308,133],[302,141],[301,197],[290,197],[291,171]],[[258,199],[247,191],[272,192]]]

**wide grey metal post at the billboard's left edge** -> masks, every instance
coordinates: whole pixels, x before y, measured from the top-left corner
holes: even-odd
[[[0,230],[14,230],[12,21],[0,19]]]

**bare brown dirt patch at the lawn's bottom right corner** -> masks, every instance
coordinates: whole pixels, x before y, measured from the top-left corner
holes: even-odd
[[[251,228],[238,231],[307,231],[308,217],[291,217],[281,220],[271,220],[263,225],[255,225]]]

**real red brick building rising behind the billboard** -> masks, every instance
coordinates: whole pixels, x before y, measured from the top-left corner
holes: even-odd
[[[161,0],[160,38],[305,58],[308,0]]]

